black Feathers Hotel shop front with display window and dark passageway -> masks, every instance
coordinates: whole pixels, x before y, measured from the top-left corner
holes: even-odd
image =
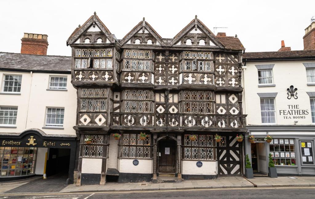
[[[0,181],[35,175],[66,175],[73,182],[75,136],[47,135],[39,129],[0,136]]]

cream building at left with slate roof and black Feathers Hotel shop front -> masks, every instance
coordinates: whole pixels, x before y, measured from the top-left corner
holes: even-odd
[[[28,42],[43,40],[32,37]],[[73,181],[77,100],[70,66],[71,57],[0,52],[0,181],[44,173]]]

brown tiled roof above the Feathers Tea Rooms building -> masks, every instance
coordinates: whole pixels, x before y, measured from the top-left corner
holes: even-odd
[[[315,50],[291,50],[274,52],[245,52],[244,59],[288,59],[288,58],[315,58]]]

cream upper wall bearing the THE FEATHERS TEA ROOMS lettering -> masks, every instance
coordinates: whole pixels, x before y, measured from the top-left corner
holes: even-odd
[[[294,120],[298,120],[297,125],[311,125],[310,97],[306,92],[314,92],[315,86],[307,86],[306,68],[303,63],[312,61],[275,61],[275,62],[249,62],[244,71],[244,91],[245,91],[245,113],[248,114],[248,125],[263,125],[261,123],[260,97],[257,93],[277,92],[276,104],[276,124],[293,125]],[[258,87],[258,70],[255,64],[275,64],[273,72],[274,87]],[[287,99],[287,88],[291,85],[297,88],[298,99]],[[304,115],[305,119],[286,119],[280,115],[279,110],[288,110],[288,105],[299,105],[299,109],[308,110],[309,114]]]

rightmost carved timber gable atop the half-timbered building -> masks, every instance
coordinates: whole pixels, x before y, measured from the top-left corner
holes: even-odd
[[[189,42],[189,44],[186,42]],[[220,48],[224,48],[224,45],[199,19],[197,19],[196,15],[195,19],[174,37],[170,45],[197,46],[203,45],[203,43],[205,46],[219,46]]]

